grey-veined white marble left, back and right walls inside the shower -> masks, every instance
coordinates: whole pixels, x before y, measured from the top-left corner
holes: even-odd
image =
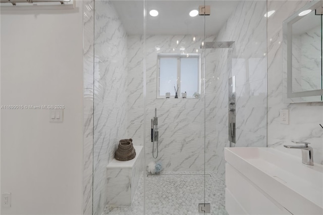
[[[116,145],[113,142],[116,143],[118,139],[121,139],[112,135],[117,134],[124,138],[123,136],[127,134],[124,132],[127,129],[128,136],[134,139],[136,145],[144,145],[142,140],[145,135],[147,141],[145,163],[148,164],[153,160],[149,126],[146,126],[147,131],[143,131],[142,127],[143,123],[150,125],[150,118],[154,115],[155,107],[160,124],[158,160],[167,171],[198,171],[204,168],[205,101],[205,115],[207,116],[205,167],[206,170],[218,172],[223,177],[223,150],[225,146],[228,146],[228,78],[232,75],[241,78],[241,81],[237,83],[237,93],[240,93],[237,96],[237,117],[241,117],[240,121],[237,121],[240,125],[237,124],[240,146],[257,144],[265,146],[266,121],[265,116],[261,115],[266,107],[265,88],[263,87],[266,77],[265,69],[263,70],[266,63],[266,58],[263,56],[265,53],[265,48],[263,48],[265,21],[262,19],[266,10],[265,2],[240,3],[237,7],[239,13],[229,18],[219,35],[206,38],[206,41],[233,40],[235,47],[206,49],[205,92],[202,91],[198,99],[155,99],[156,48],[160,48],[159,52],[172,52],[173,48],[178,51],[185,44],[188,52],[195,52],[203,37],[196,36],[193,42],[192,35],[147,36],[146,122],[143,121],[142,111],[144,110],[143,37],[128,36],[127,40],[127,35],[110,3],[98,1],[96,8],[98,10],[95,14],[94,38],[95,47],[97,47],[95,49],[94,130],[97,133],[94,134],[94,214],[98,214],[105,205],[106,181],[101,176],[104,175],[104,165],[109,162],[109,157],[112,157],[114,153]],[[111,13],[107,13],[106,10]],[[259,26],[261,28],[258,28]],[[118,30],[111,32],[109,29]],[[177,40],[179,45],[176,45]],[[106,52],[100,52],[103,49],[111,56],[104,56]],[[112,59],[116,62],[111,61]],[[122,64],[118,64],[119,62]],[[125,68],[124,65],[127,67]],[[203,65],[201,67],[203,68]],[[117,68],[120,69],[118,72]],[[107,71],[114,72],[107,73]],[[202,80],[204,80],[203,76]],[[201,88],[203,89],[204,86],[202,85]],[[127,98],[124,92],[127,92]],[[108,101],[110,101],[110,106]],[[106,106],[109,107],[107,110],[105,110]],[[112,110],[117,110],[118,113],[112,113]]]

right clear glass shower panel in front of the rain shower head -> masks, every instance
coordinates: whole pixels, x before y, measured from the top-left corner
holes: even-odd
[[[205,203],[211,214],[227,214],[225,147],[266,147],[266,4],[205,1],[211,8],[204,43]]]

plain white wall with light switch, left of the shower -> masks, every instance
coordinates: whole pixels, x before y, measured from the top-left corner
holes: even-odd
[[[1,105],[65,105],[1,110],[2,214],[82,213],[82,8],[1,8]]]

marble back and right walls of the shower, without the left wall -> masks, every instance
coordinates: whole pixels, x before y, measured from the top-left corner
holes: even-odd
[[[193,41],[193,35],[147,36],[146,164],[154,160],[161,162],[164,171],[203,171],[205,135],[206,170],[224,174],[223,150],[229,146],[228,79],[231,76],[237,77],[236,146],[266,146],[266,19],[263,17],[266,3],[241,2],[237,8],[239,13],[229,18],[217,37],[205,39],[235,41],[235,45],[232,49],[206,49],[205,93],[202,90],[198,99],[156,99],[156,60],[157,53],[179,52],[183,46],[188,53],[196,52],[203,37],[195,36]],[[139,96],[143,91],[143,63],[136,54],[143,53],[142,36],[129,36],[128,46],[128,134],[140,139],[142,133],[137,131],[143,123],[140,110],[144,104]],[[155,108],[159,131],[157,159],[152,158],[150,142],[150,119]]]

